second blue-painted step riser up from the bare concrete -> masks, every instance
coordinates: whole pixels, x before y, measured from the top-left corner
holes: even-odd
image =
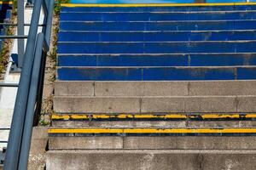
[[[256,65],[256,54],[59,55],[58,66]]]

